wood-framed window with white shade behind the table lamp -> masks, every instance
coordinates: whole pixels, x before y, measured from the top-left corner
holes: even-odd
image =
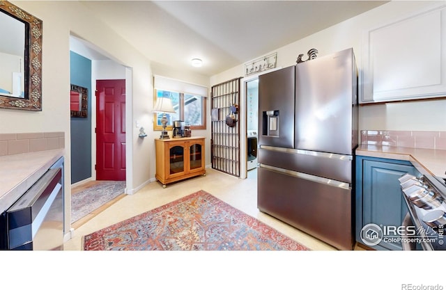
[[[184,124],[189,124],[190,129],[206,129],[206,95],[207,88],[166,79],[162,76],[155,76],[154,102],[158,97],[168,97],[176,113],[166,113],[167,129],[172,129],[175,120],[183,120]],[[182,85],[182,86],[181,86]],[[187,85],[187,86],[185,86]],[[195,89],[194,86],[199,88]],[[171,89],[167,88],[171,87]],[[187,90],[188,92],[185,92]],[[153,124],[154,130],[162,130],[162,113],[154,113],[156,122]]]

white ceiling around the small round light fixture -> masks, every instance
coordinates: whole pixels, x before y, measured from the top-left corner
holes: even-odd
[[[156,63],[206,76],[387,1],[81,1]],[[201,58],[202,67],[192,67]]]

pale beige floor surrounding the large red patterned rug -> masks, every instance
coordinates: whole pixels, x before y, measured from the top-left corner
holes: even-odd
[[[301,232],[290,225],[263,214],[256,207],[256,170],[248,172],[247,179],[239,179],[211,168],[206,176],[194,177],[162,188],[159,182],[151,182],[134,195],[125,195],[75,229],[72,239],[64,244],[64,250],[82,250],[82,236],[95,232],[121,220],[160,207],[199,190],[215,195],[231,206],[274,227],[312,250],[336,250],[332,246]],[[355,248],[356,249],[356,248]]]

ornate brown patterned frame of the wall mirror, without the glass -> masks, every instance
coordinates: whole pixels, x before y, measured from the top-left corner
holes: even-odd
[[[0,108],[42,111],[43,22],[8,1],[0,0],[0,10],[25,24],[25,95],[20,98],[0,94]]]

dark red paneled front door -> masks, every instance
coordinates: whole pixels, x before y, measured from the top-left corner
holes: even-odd
[[[125,79],[96,81],[96,179],[125,180]]]

